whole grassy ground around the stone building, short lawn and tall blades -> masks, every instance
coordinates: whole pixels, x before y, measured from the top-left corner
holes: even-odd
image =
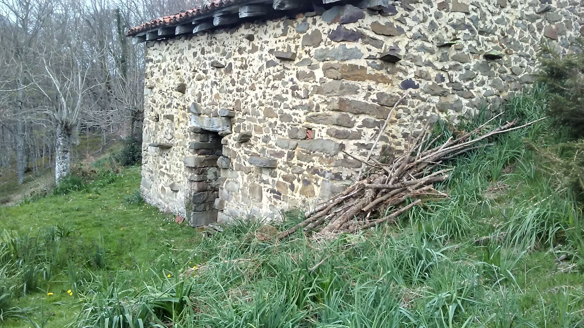
[[[506,118],[543,104],[517,97]],[[579,144],[545,121],[492,141],[450,163],[450,199],[335,240],[277,242],[294,215],[177,225],[141,202],[137,167],[0,208],[0,324],[583,327]]]

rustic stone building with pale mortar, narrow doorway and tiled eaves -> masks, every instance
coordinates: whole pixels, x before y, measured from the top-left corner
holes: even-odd
[[[278,218],[353,182],[412,131],[534,82],[574,0],[214,0],[128,32],[146,42],[141,192],[193,226]]]

